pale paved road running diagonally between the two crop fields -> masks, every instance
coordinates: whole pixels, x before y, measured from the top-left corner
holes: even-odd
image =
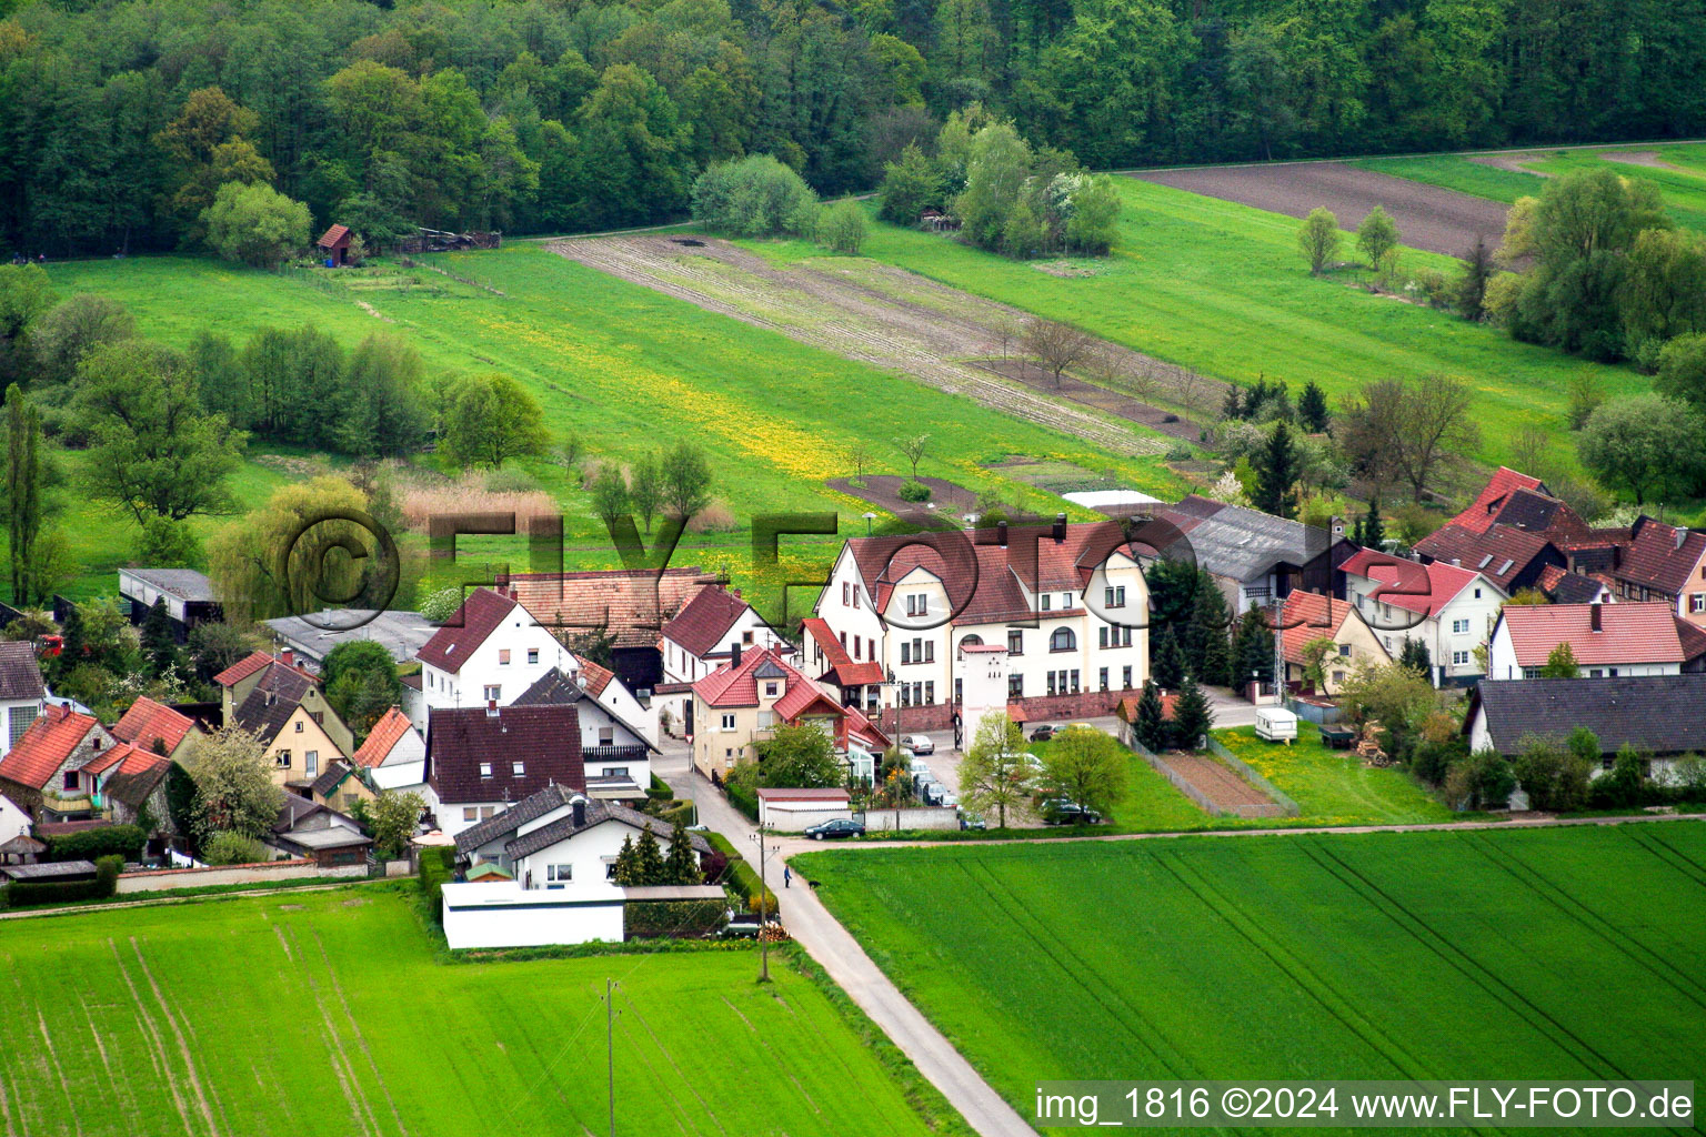
[[[686,747],[665,742],[664,757],[653,767],[667,781],[677,798],[693,798],[699,808],[699,822],[710,825],[759,868],[756,828],[701,776],[688,771]],[[793,847],[809,842],[775,840],[773,846]],[[790,849],[792,851],[792,849]],[[1036,1130],[989,1088],[989,1082],[971,1067],[959,1050],[942,1036],[930,1019],[889,982],[858,941],[829,915],[810,888],[783,888],[781,864],[786,852],[773,857],[768,880],[781,907],[781,921],[788,932],[812,953],[812,958],[836,980],[853,1002],[877,1023],[879,1028],[913,1060],[913,1065],[942,1091],[972,1128],[984,1137],[1036,1137]]]

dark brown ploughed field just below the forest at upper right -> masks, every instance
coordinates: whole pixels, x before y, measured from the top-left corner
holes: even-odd
[[[1344,230],[1355,230],[1378,205],[1397,222],[1406,245],[1447,256],[1462,256],[1476,237],[1498,244],[1505,232],[1505,206],[1498,201],[1344,162],[1210,165],[1133,177],[1290,216],[1305,216],[1315,206],[1326,206]]]

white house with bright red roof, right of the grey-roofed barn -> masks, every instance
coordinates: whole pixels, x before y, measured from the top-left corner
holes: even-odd
[[[1433,561],[1416,564],[1360,549],[1343,566],[1344,595],[1397,658],[1406,639],[1428,648],[1433,685],[1474,682],[1483,672],[1476,648],[1488,643],[1508,597],[1474,569]]]

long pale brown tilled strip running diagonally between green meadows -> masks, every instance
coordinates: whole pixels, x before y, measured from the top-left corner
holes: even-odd
[[[725,240],[686,244],[669,235],[558,240],[549,249],[701,309],[902,373],[1119,453],[1165,448],[1160,440],[1116,421],[1141,423],[1158,416],[1153,407],[1123,414],[1133,401],[1105,399],[1107,390],[1073,384],[1082,389],[1076,395],[1075,390],[1044,392],[979,366],[976,360],[1001,355],[1001,336],[995,329],[1003,320],[1017,326],[1025,314],[904,269],[856,257],[776,266]],[[1126,373],[1143,375],[1155,390],[1172,394],[1179,389],[1206,406],[1218,406],[1218,382],[1186,375],[1170,363],[1117,344],[1104,343],[1102,348]],[[1007,349],[1017,349],[1012,338]]]

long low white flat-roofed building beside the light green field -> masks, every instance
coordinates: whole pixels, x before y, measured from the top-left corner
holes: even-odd
[[[444,886],[444,938],[461,948],[544,948],[594,939],[621,943],[623,895],[525,892],[514,881]]]

